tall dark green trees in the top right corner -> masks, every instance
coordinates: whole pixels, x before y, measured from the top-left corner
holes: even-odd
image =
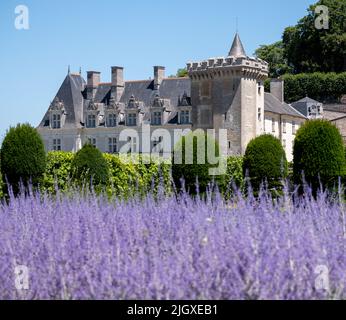
[[[329,29],[319,30],[315,21],[318,5],[329,9]],[[346,0],[320,0],[310,6],[308,15],[283,34],[283,48],[295,73],[346,71]]]

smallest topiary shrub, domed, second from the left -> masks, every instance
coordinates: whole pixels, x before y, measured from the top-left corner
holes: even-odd
[[[101,151],[90,144],[84,145],[72,161],[71,176],[80,185],[106,185],[109,181],[109,168]]]

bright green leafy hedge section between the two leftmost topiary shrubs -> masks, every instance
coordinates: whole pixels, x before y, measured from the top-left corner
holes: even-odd
[[[54,193],[68,191],[71,186],[71,167],[74,154],[72,152],[53,151],[47,154],[47,166],[43,178],[43,190]]]

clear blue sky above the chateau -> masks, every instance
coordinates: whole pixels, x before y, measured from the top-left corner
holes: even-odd
[[[125,67],[125,78],[175,74],[189,60],[226,55],[236,31],[248,55],[306,14],[314,0],[1,0],[0,141],[10,125],[37,126],[67,73]],[[29,8],[30,29],[14,27]]]

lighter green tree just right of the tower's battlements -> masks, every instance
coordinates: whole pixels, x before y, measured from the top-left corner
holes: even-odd
[[[256,50],[255,55],[269,63],[269,77],[271,78],[277,78],[293,71],[284,57],[282,41],[270,45],[261,45]]]

